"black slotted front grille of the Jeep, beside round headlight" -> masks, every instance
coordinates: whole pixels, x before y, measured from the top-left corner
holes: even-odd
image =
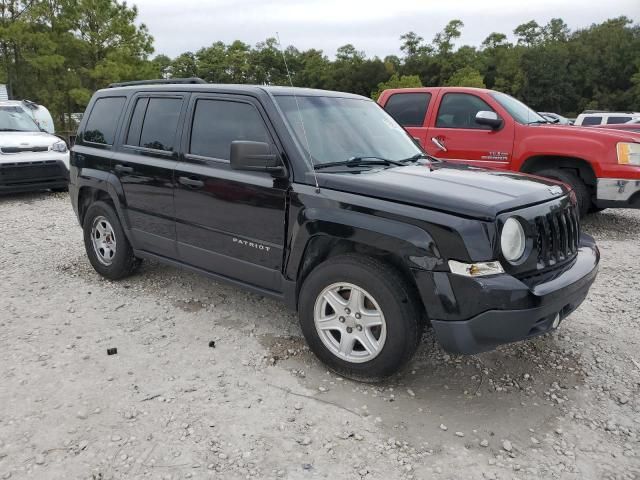
[[[538,269],[564,263],[578,252],[580,222],[573,205],[535,218]]]

